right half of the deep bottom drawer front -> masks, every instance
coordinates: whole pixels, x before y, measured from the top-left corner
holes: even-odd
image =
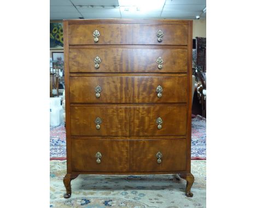
[[[160,163],[156,154],[160,152]],[[186,139],[130,140],[131,172],[186,169]]]

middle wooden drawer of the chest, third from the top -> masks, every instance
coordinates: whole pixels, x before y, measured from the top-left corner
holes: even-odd
[[[95,87],[101,87],[96,97]],[[156,88],[162,87],[158,97]],[[187,102],[187,76],[97,76],[70,77],[72,103],[162,103]]]

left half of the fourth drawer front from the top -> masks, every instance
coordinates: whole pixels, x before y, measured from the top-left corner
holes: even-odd
[[[71,106],[70,111],[73,136],[128,136],[129,134],[128,107]],[[97,118],[100,120],[96,120]],[[100,128],[97,125],[100,125]]]

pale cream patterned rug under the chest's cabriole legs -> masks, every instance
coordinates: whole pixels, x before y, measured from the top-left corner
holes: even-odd
[[[71,182],[71,198],[65,199],[66,161],[52,160],[50,207],[206,207],[206,161],[191,161],[191,172],[195,177],[192,198],[185,197],[185,180],[175,175],[79,175]]]

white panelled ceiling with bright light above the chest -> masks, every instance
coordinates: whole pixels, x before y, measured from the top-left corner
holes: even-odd
[[[50,0],[50,20],[206,19],[205,8],[206,0]]]

